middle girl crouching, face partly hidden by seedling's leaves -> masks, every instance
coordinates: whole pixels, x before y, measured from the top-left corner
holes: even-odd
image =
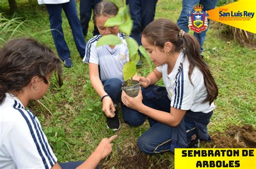
[[[116,131],[120,128],[118,112],[116,107],[121,100],[121,87],[124,81],[123,66],[129,62],[129,52],[126,40],[122,33],[119,33],[118,26],[105,27],[107,19],[115,17],[118,13],[118,7],[112,2],[100,2],[93,10],[93,21],[97,26],[100,35],[90,39],[86,45],[85,57],[83,61],[89,63],[90,80],[93,88],[99,94],[106,115],[107,128]],[[103,45],[96,48],[98,40],[105,35],[117,35],[122,39],[122,44],[116,46]],[[123,105],[122,109],[123,109]],[[140,114],[125,114],[124,121],[133,125],[138,120]],[[143,122],[142,122],[143,123]],[[142,124],[140,123],[140,124]],[[134,124],[138,124],[137,122]]]

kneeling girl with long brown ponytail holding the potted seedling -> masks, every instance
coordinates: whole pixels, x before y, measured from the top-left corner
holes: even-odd
[[[207,124],[218,88],[196,38],[168,19],[157,19],[146,26],[142,44],[157,67],[146,78],[138,77],[143,87],[136,98],[122,93],[131,112],[144,114],[150,122],[151,128],[138,139],[140,150],[174,152],[176,147],[198,147],[199,139],[210,140]],[[153,85],[160,78],[165,87]]]

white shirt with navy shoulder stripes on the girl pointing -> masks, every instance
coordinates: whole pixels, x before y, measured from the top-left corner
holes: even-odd
[[[51,168],[56,162],[37,117],[6,93],[0,104],[0,168]]]

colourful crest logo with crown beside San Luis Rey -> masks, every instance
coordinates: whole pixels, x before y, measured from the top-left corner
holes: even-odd
[[[203,5],[194,5],[192,12],[188,13],[188,28],[197,33],[204,31],[208,27],[208,13],[203,11]]]

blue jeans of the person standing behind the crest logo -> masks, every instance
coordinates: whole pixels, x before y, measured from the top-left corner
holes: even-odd
[[[193,10],[193,6],[196,4],[201,4],[204,6],[203,10],[208,11],[211,9],[214,9],[218,0],[183,0],[182,2],[182,10],[180,13],[180,17],[177,21],[177,25],[180,29],[183,29],[185,32],[188,32],[188,18],[187,15],[190,11]],[[208,19],[208,24],[210,24],[210,21]],[[209,25],[208,25],[209,28]],[[205,31],[202,31],[200,33],[194,32],[194,36],[197,38],[199,44],[200,44],[200,52],[204,51],[203,45],[204,40],[206,37],[206,32],[208,28]]]

